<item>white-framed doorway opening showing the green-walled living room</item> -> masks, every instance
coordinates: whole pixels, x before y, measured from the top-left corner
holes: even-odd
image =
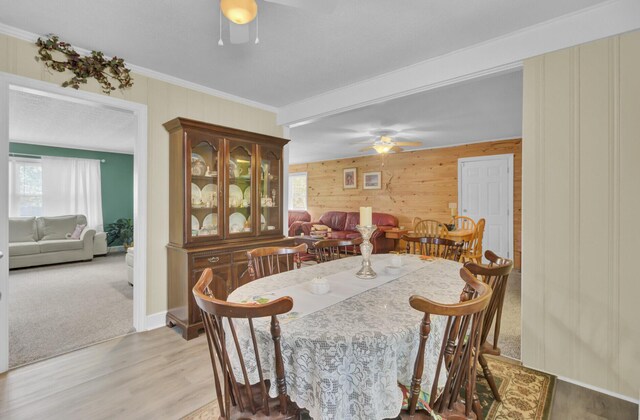
[[[3,371],[145,329],[147,116],[124,100],[0,81]]]

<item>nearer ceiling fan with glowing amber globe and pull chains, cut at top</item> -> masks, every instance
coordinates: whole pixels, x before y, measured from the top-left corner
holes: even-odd
[[[315,12],[331,13],[336,8],[338,0],[260,0],[260,2],[275,3],[283,6]],[[223,46],[222,41],[222,16],[229,23],[229,40],[232,44],[244,44],[249,42],[249,23],[256,21],[256,39],[258,37],[258,3],[256,0],[220,0],[220,39],[218,45]]]

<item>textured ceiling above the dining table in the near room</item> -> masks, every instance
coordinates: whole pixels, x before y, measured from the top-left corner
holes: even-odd
[[[258,45],[217,45],[217,0],[0,0],[0,22],[282,106],[603,0],[341,0],[330,15],[257,1]]]

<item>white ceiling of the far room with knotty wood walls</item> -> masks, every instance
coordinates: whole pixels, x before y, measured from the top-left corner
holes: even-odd
[[[522,72],[477,79],[323,118],[290,131],[291,163],[375,154],[371,132],[422,141],[405,150],[522,135]]]

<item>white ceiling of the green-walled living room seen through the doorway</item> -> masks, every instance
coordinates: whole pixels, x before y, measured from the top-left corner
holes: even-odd
[[[17,143],[133,153],[133,113],[41,92],[12,90],[9,139]]]

